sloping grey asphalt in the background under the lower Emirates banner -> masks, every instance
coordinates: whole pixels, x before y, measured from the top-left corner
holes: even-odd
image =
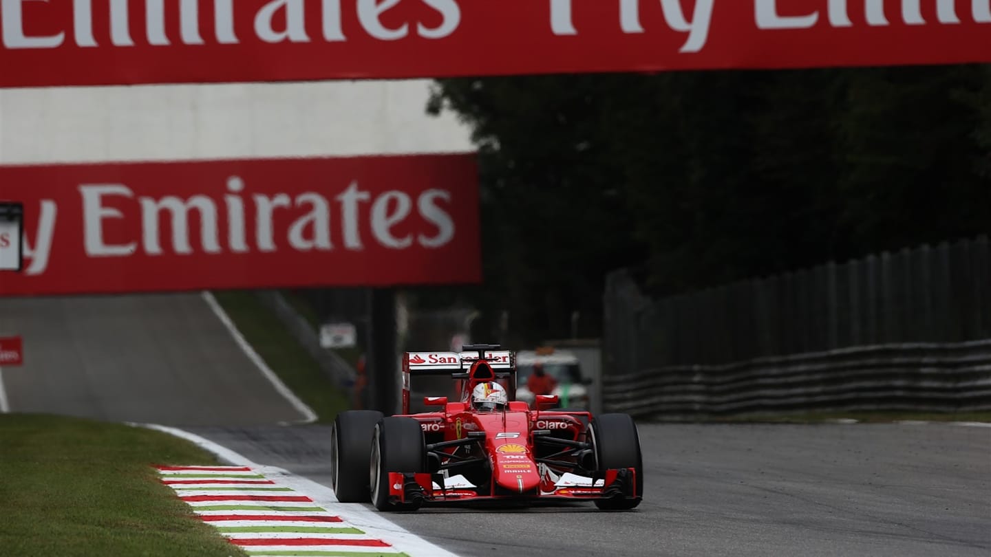
[[[163,425],[297,421],[200,294],[0,299],[10,410]]]

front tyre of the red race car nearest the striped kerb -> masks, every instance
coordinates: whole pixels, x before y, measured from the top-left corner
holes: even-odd
[[[369,466],[371,464],[371,466]],[[372,485],[372,503],[379,510],[416,510],[422,501],[389,501],[389,472],[409,474],[427,471],[427,450],[420,422],[408,417],[384,417],[372,433],[372,455],[366,462]]]

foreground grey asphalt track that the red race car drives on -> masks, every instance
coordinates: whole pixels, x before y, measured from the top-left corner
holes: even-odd
[[[640,424],[646,500],[389,514],[463,556],[991,554],[991,428]],[[329,485],[324,426],[195,428]]]

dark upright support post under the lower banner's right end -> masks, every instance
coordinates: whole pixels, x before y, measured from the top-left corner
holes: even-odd
[[[366,350],[369,409],[385,415],[398,411],[399,356],[395,322],[395,290],[369,288]]]

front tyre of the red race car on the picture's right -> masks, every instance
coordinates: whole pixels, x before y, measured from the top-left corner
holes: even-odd
[[[636,423],[629,414],[601,414],[589,425],[599,470],[633,468],[636,471],[636,498],[598,500],[603,510],[626,510],[643,500],[643,455]]]

